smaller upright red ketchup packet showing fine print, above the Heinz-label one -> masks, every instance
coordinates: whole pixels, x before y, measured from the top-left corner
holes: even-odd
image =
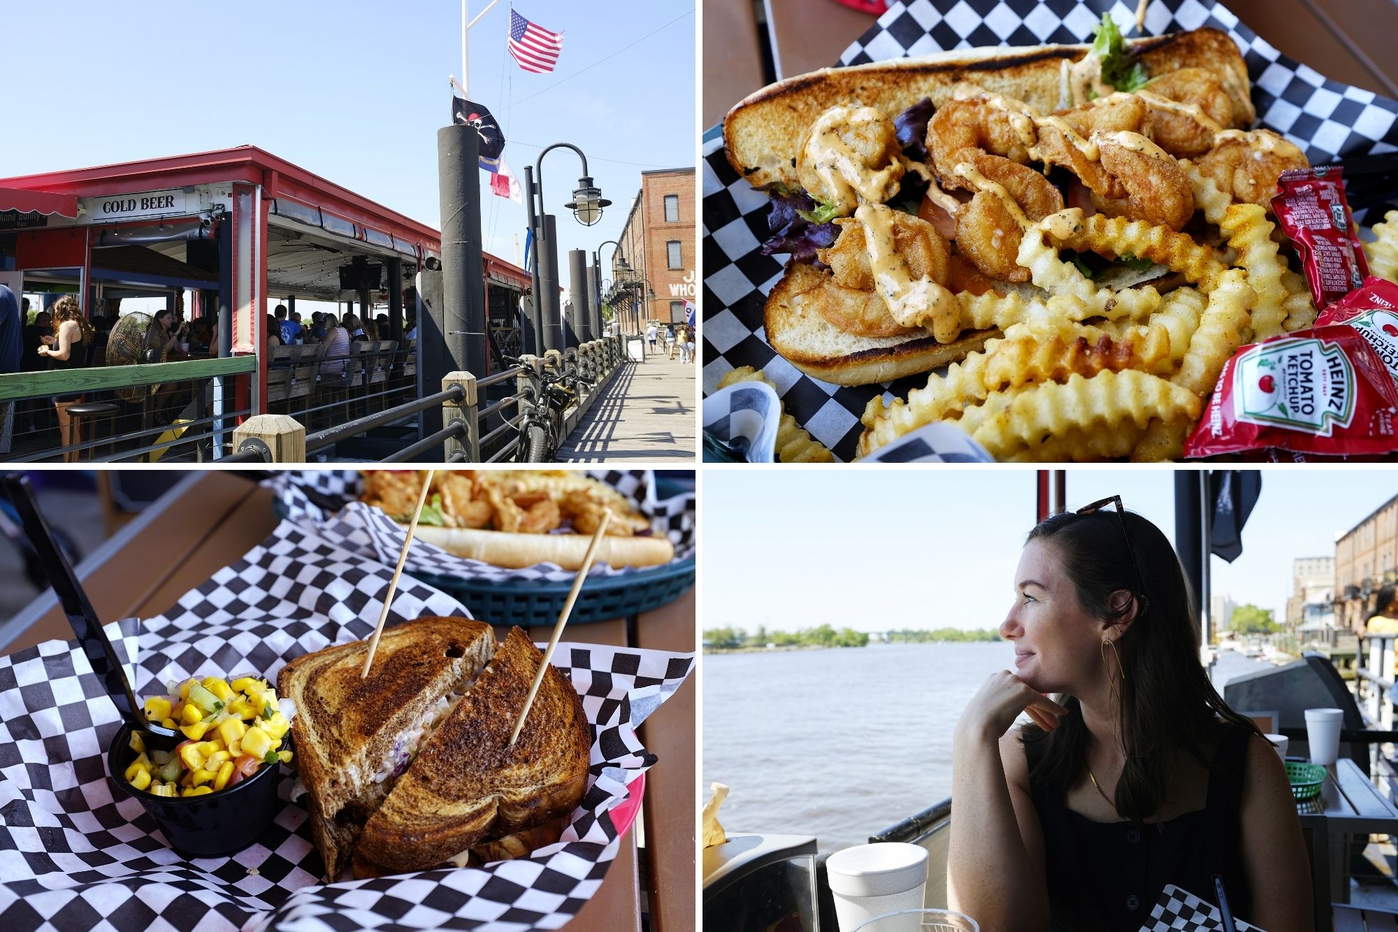
[[[1293,168],[1276,179],[1272,210],[1296,252],[1317,308],[1324,308],[1369,276],[1355,220],[1345,200],[1339,165]]]

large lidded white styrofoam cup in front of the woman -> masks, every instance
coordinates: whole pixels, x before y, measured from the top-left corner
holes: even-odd
[[[923,905],[927,848],[900,841],[856,845],[825,862],[840,932],[899,910]],[[917,915],[895,915],[864,926],[864,932],[918,932]]]

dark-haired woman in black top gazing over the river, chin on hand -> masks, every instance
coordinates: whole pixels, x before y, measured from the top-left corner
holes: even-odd
[[[1120,498],[1040,522],[1000,635],[1015,672],[986,680],[953,739],[953,910],[983,929],[1134,932],[1166,884],[1212,901],[1219,875],[1236,917],[1313,928],[1286,772],[1209,683],[1155,525]]]

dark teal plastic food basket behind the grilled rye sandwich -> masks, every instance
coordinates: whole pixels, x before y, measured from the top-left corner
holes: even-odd
[[[682,483],[665,476],[656,476],[646,470],[628,473],[612,470],[608,473],[594,473],[594,476],[603,481],[608,481],[618,490],[629,490],[629,494],[637,500],[644,514],[651,514],[647,502],[679,502],[688,497],[688,508],[685,509],[688,515],[675,514],[674,511],[668,512],[670,526],[684,528],[681,543],[677,546],[677,558],[668,564],[621,571],[594,567],[582,591],[577,593],[577,603],[573,606],[569,624],[589,624],[651,612],[674,602],[695,584],[695,556],[691,543],[693,493]],[[292,484],[298,481],[301,480],[291,477]],[[345,484],[350,481],[348,479],[336,480],[329,473],[322,473],[306,481],[315,483],[320,501],[326,498],[331,501],[351,501],[358,494]],[[653,495],[642,500],[643,490],[649,484],[654,486]],[[274,509],[278,518],[298,523],[306,521],[315,522],[303,508],[294,504],[295,497],[288,495],[289,486],[285,477],[273,480],[273,486],[278,488],[278,497],[274,500]],[[305,490],[305,486],[302,486],[302,490]],[[671,505],[671,508],[677,507]],[[656,505],[656,514],[664,514],[658,511],[660,505]],[[336,529],[329,522],[322,523],[320,533],[327,532],[334,533]],[[674,539],[674,535],[671,537]],[[358,543],[350,536],[336,536],[333,539],[344,544]],[[394,556],[398,546],[401,546],[401,537],[398,537],[398,543],[393,547]],[[414,543],[412,551],[417,553],[417,550],[418,546]],[[391,563],[393,560],[389,560],[390,565]],[[482,565],[456,557],[446,557],[446,563],[463,567],[467,564]],[[563,610],[563,602],[568,600],[568,592],[573,585],[572,572],[542,574],[523,570],[474,574],[432,571],[424,568],[424,565],[414,567],[414,560],[410,557],[404,574],[411,574],[412,578],[460,599],[471,610],[473,616],[488,619],[492,624],[517,624],[526,628],[534,626],[552,627],[558,621],[558,614]]]

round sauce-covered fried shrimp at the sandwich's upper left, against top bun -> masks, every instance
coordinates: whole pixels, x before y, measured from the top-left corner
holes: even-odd
[[[840,214],[860,202],[881,204],[903,179],[903,150],[893,120],[872,106],[832,106],[801,143],[797,175],[807,193]]]

